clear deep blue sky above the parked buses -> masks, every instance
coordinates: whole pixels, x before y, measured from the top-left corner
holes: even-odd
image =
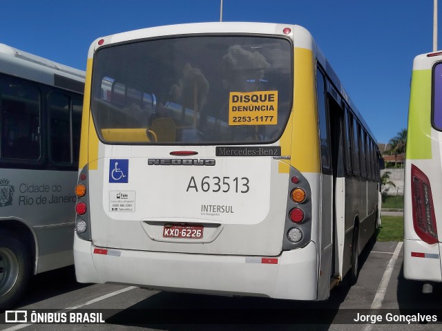
[[[222,19],[304,26],[378,142],[407,127],[412,60],[432,51],[432,0],[224,0]],[[0,43],[85,70],[97,37],[219,20],[220,0],[3,0]]]

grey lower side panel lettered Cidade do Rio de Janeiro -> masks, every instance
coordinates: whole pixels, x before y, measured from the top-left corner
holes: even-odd
[[[73,264],[76,171],[2,169],[1,189],[10,196],[0,207],[2,221],[18,220],[37,242],[35,273]]]

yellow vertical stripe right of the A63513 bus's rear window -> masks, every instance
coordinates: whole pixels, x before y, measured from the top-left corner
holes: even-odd
[[[316,108],[315,62],[313,52],[295,48],[294,106],[286,132],[280,140],[282,155],[289,151],[290,164],[301,172],[319,173],[318,110]],[[288,172],[282,162],[279,168]]]

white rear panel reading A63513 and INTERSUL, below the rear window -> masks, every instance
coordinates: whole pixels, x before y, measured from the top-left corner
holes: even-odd
[[[140,149],[143,147],[140,146]],[[97,173],[104,173],[104,178],[94,176],[95,171],[89,172],[91,190],[100,192],[90,196],[91,205],[96,206],[90,211],[91,218],[95,219],[92,228],[94,245],[200,254],[280,254],[284,229],[284,223],[280,220],[286,217],[289,178],[286,173],[277,172],[278,160],[213,158],[222,164],[220,170],[216,164],[204,169],[198,166],[148,166],[147,158],[130,158],[129,181],[135,173],[139,174],[130,186],[112,185],[108,182],[109,160],[99,160]],[[233,167],[229,163],[233,164]],[[101,167],[106,170],[100,171]],[[149,167],[154,168],[150,173]],[[253,175],[252,169],[257,168],[266,169],[266,173]],[[165,176],[159,175],[164,171]],[[192,176],[196,178],[195,185],[198,185],[198,192],[193,190],[193,194],[186,192],[189,185],[194,185]],[[201,191],[202,178],[209,177],[207,182],[213,186],[213,178],[216,176],[230,177],[231,189],[236,189],[236,183],[231,179],[246,176],[249,178],[251,198],[246,196],[247,193],[240,196],[240,192],[219,195],[217,193],[220,192]],[[155,182],[155,178],[163,178],[162,184]],[[258,185],[258,182],[261,182],[262,186]],[[129,188],[126,189],[126,186]],[[144,189],[146,186],[155,189],[149,191]],[[224,189],[227,189],[226,185]],[[239,187],[238,191],[241,189],[246,190]],[[133,211],[111,211],[115,201],[113,194],[120,192],[134,197],[135,201],[130,202],[133,203],[130,207]],[[273,201],[271,205],[270,201]],[[102,206],[102,209],[97,208],[98,206]],[[256,211],[259,211],[259,214]],[[203,237],[163,238],[164,225],[168,223],[203,225]],[[119,236],[122,231],[128,236]]]

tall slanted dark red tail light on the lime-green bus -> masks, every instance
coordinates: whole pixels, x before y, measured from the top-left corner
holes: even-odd
[[[430,180],[414,164],[412,164],[412,207],[416,234],[427,244],[437,243],[439,239]]]

